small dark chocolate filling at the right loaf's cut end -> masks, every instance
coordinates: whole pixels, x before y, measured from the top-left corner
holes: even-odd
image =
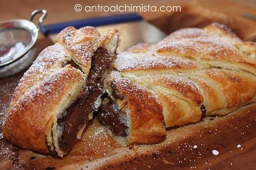
[[[99,113],[97,114],[98,121],[108,127],[116,136],[127,136],[126,126],[120,122],[119,111],[114,109],[114,105],[111,102],[101,104]]]

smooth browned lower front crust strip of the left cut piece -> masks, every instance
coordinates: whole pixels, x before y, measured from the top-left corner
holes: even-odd
[[[46,134],[51,131],[52,119],[58,110],[56,106],[60,101],[70,101],[70,91],[79,93],[81,86],[81,73],[70,65],[44,79],[9,107],[4,138],[22,148],[48,153]]]

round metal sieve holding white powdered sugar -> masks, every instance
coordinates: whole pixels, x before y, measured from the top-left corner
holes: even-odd
[[[32,21],[38,13],[42,13],[42,16],[36,26]],[[45,9],[37,9],[28,20],[0,22],[0,78],[12,76],[33,62],[38,31],[46,16]]]

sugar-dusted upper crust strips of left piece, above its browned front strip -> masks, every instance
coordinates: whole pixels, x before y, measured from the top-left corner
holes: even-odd
[[[110,32],[109,34],[108,36],[111,37],[114,33]],[[28,71],[24,73],[14,92],[13,102],[16,102],[24,93],[32,91],[43,79],[60,72],[67,65],[67,60],[71,60],[71,58],[80,63],[83,72],[87,74],[93,52],[100,45],[104,45],[98,42],[99,36],[99,32],[93,27],[81,28],[78,31],[73,27],[64,29],[58,34],[57,43],[45,48]],[[100,39],[100,41],[106,41],[106,38]]]

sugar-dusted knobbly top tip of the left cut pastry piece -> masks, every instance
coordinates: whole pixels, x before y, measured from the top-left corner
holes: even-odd
[[[80,63],[83,71],[87,73],[93,52],[101,46],[105,47],[116,32],[115,29],[109,29],[106,34],[100,36],[94,27],[82,27],[78,30],[74,27],[67,27],[58,34],[56,42],[62,44],[63,48],[72,54],[75,61]]]

